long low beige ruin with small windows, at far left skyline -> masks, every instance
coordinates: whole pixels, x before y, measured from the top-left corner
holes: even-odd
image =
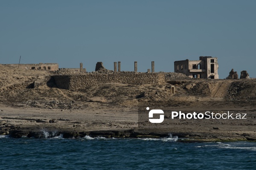
[[[49,71],[57,71],[58,64],[56,63],[39,63],[39,64],[5,64],[11,67],[17,67],[21,69],[29,69],[29,70],[49,70]]]

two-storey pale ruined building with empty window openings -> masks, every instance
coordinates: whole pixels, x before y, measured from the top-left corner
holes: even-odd
[[[201,56],[199,60],[175,61],[174,71],[191,78],[218,79],[218,58]]]

